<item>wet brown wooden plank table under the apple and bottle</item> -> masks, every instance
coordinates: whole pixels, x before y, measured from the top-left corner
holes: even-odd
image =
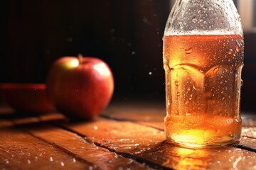
[[[256,169],[256,115],[239,145],[186,149],[165,141],[164,104],[115,103],[92,121],[0,108],[0,169]]]

